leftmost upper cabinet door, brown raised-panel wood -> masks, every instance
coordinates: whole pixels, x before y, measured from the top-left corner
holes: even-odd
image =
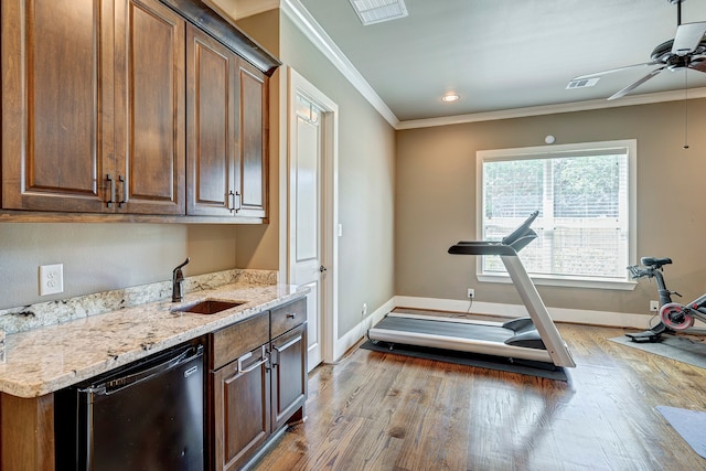
[[[2,0],[2,207],[107,207],[113,11],[104,0]]]

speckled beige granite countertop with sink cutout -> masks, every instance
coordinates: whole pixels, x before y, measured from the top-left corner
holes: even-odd
[[[0,392],[38,397],[195,339],[306,295],[288,285],[234,282],[8,334]],[[216,314],[175,313],[204,299],[244,301]]]

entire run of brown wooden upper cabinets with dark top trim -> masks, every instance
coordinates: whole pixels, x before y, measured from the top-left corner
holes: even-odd
[[[201,1],[0,11],[2,210],[266,218],[277,60]]]

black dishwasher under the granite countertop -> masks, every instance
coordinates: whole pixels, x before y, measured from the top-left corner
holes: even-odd
[[[190,344],[57,392],[56,470],[203,470],[203,379]]]

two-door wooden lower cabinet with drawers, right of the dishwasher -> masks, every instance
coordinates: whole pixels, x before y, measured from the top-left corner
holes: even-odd
[[[306,300],[213,333],[210,362],[208,468],[237,470],[282,427],[304,418]]]

